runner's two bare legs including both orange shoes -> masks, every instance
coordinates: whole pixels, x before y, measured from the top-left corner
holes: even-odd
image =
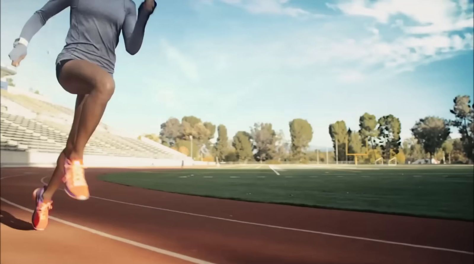
[[[82,167],[82,155],[115,89],[114,80],[108,72],[91,62],[82,60],[66,62],[58,79],[66,91],[78,97],[66,148],[59,155],[50,184],[46,188],[37,188],[33,192],[36,208],[33,211],[31,223],[36,230],[43,230],[47,226],[48,211],[52,208],[51,198],[58,189],[61,178],[69,196],[78,200],[89,198],[89,188],[85,182]]]

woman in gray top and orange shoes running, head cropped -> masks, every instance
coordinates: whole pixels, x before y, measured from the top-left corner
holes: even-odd
[[[67,7],[71,8],[70,27],[66,45],[56,59],[56,78],[64,90],[77,97],[71,132],[55,171],[48,185],[33,192],[36,209],[32,225],[36,230],[46,228],[53,194],[61,180],[69,196],[77,200],[89,198],[82,157],[115,90],[115,49],[120,32],[127,52],[136,54],[156,2],[145,0],[138,7],[137,16],[133,0],[49,0],[28,19],[15,40],[9,53],[13,66],[25,58],[28,43],[46,21]]]

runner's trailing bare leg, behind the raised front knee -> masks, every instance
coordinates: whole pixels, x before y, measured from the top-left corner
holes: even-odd
[[[62,183],[62,179],[64,176],[64,162],[65,162],[65,154],[71,152],[73,150],[74,141],[76,141],[77,135],[77,128],[79,126],[79,118],[81,117],[82,106],[84,101],[88,95],[77,95],[76,97],[76,106],[74,107],[74,118],[73,118],[73,125],[71,126],[71,132],[69,132],[69,137],[66,141],[66,147],[63,151],[59,154],[59,158],[56,162],[56,168],[49,180],[47,188],[43,193],[43,199],[45,202],[49,202],[53,198],[53,194],[55,194],[56,190]]]

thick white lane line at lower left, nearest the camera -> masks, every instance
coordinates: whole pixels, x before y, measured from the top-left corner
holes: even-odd
[[[0,197],[1,201],[2,202],[6,202],[10,205],[13,205],[15,207],[18,207],[19,209],[22,209],[22,210],[25,210],[25,211],[28,211],[30,213],[33,212],[33,210],[31,209],[28,209],[26,207],[23,207],[21,205],[18,205],[16,203],[13,203],[13,202],[10,202],[2,197]],[[182,259],[182,260],[185,260],[185,261],[189,261],[191,263],[196,263],[196,264],[212,264],[210,262],[207,262],[207,261],[204,261],[204,260],[201,260],[201,259],[197,259],[197,258],[193,258],[193,257],[190,257],[190,256],[187,256],[187,255],[181,255],[181,254],[178,254],[178,253],[175,253],[175,252],[172,252],[172,251],[168,251],[168,250],[165,250],[165,249],[161,249],[161,248],[158,248],[158,247],[155,247],[155,246],[149,246],[149,245],[146,245],[146,244],[142,244],[142,243],[139,243],[139,242],[136,242],[136,241],[133,241],[133,240],[129,240],[127,238],[120,238],[120,237],[117,237],[117,236],[114,236],[114,235],[110,235],[110,234],[107,234],[107,233],[104,233],[104,232],[101,232],[99,230],[96,230],[96,229],[91,229],[91,228],[88,228],[88,227],[85,227],[85,226],[81,226],[81,225],[78,225],[78,224],[75,224],[73,222],[69,222],[69,221],[66,221],[66,220],[62,220],[60,218],[57,218],[57,217],[54,217],[54,216],[49,216],[49,219],[51,220],[55,220],[55,221],[58,221],[60,223],[63,223],[65,225],[68,225],[68,226],[72,226],[72,227],[75,227],[77,229],[82,229],[84,231],[87,231],[87,232],[91,232],[92,234],[96,234],[96,235],[99,235],[101,237],[105,237],[105,238],[110,238],[110,239],[113,239],[113,240],[117,240],[117,241],[120,241],[120,242],[123,242],[123,243],[127,243],[129,245],[132,245],[132,246],[137,246],[137,247],[141,247],[141,248],[144,248],[144,249],[148,249],[150,251],[154,251],[156,253],[160,253],[160,254],[163,254],[163,255],[169,255],[169,256],[172,256],[172,257],[175,257],[175,258],[179,258],[179,259]]]

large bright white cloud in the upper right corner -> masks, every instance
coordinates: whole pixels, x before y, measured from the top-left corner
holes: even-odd
[[[458,3],[450,0],[343,0],[326,5],[349,17],[374,18],[379,25],[390,22],[392,28],[401,28],[402,34],[388,32],[387,27],[383,27],[382,34],[379,31],[382,28],[365,27],[371,36],[339,42],[325,40],[328,41],[325,52],[315,60],[324,58],[326,62],[340,65],[353,62],[361,67],[362,73],[364,69],[374,71],[374,68],[398,73],[473,49],[473,34],[458,32],[473,27],[473,5],[466,0]],[[383,38],[385,34],[391,35],[390,40]],[[356,77],[348,74],[343,79]]]

